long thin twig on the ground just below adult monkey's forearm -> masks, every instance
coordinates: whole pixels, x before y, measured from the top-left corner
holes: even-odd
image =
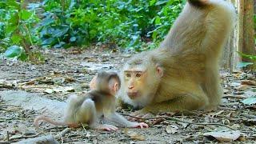
[[[134,117],[134,116],[130,116],[130,115],[127,115],[127,114],[123,114],[125,116],[129,116],[129,117],[132,117],[132,118],[138,118],[138,117]],[[215,125],[215,126],[225,126],[227,128],[229,128],[230,130],[235,130],[234,128],[230,127],[230,126],[226,126],[226,125],[223,125],[221,123],[208,123],[208,122],[202,122],[202,123],[194,123],[194,122],[186,122],[186,121],[182,121],[178,118],[170,118],[170,117],[167,117],[167,116],[159,116],[159,117],[154,117],[154,118],[138,118],[138,119],[157,119],[157,118],[164,118],[164,119],[169,119],[171,121],[176,121],[176,122],[183,122],[183,123],[188,123],[188,124],[191,124],[191,125]]]

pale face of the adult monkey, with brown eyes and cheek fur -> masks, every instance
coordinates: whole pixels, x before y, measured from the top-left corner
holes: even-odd
[[[122,71],[126,95],[139,102],[151,99],[162,77],[162,69],[159,69],[153,62],[127,62]]]

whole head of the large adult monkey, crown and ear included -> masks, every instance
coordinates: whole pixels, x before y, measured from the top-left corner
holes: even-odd
[[[163,69],[153,55],[136,55],[126,62],[121,71],[122,94],[126,94],[133,102],[151,101],[158,90],[163,76]],[[139,103],[138,105],[144,105]]]

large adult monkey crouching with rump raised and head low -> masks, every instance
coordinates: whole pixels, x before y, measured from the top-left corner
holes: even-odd
[[[222,98],[218,59],[234,15],[222,0],[188,0],[161,46],[123,66],[119,102],[142,108],[135,116],[216,108]]]

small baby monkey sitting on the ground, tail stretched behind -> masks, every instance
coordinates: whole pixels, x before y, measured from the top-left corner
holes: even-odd
[[[63,122],[39,116],[35,118],[34,124],[38,126],[38,122],[43,120],[59,126],[79,127],[81,123],[85,123],[94,130],[118,130],[116,126],[102,124],[103,118],[106,122],[122,127],[148,127],[144,122],[130,122],[115,112],[115,94],[121,86],[117,73],[100,72],[92,82],[90,92],[83,96],[71,95],[68,98]]]

